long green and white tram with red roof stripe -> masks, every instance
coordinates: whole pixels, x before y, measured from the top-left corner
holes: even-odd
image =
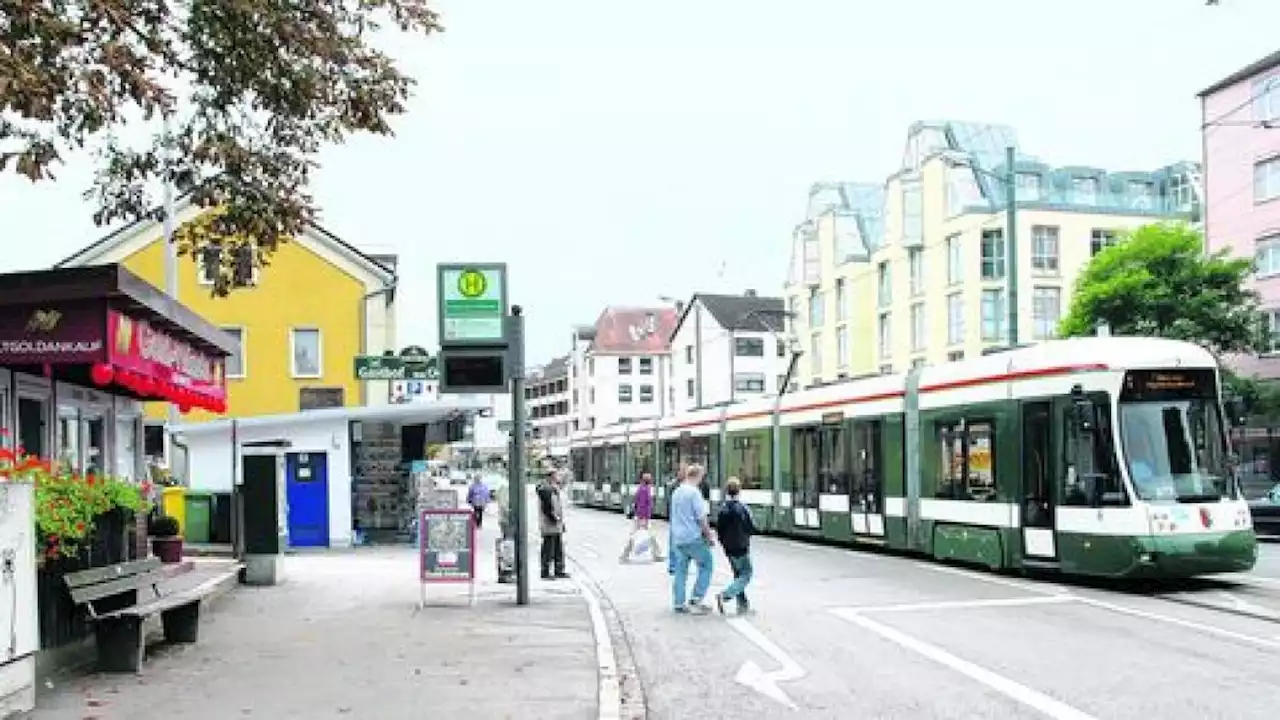
[[[1233,411],[1230,416],[1238,416]],[[724,478],[773,533],[992,569],[1244,571],[1257,538],[1217,365],[1190,343],[1073,338],[777,398],[579,432],[576,503],[622,510],[641,471]]]

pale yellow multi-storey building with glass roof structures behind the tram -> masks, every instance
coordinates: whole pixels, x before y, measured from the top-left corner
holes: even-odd
[[[1010,128],[916,123],[884,183],[819,183],[786,297],[804,348],[794,387],[975,356],[1009,341]],[[1198,213],[1198,169],[1053,168],[1021,151],[1018,342],[1053,337],[1076,274],[1123,231]]]

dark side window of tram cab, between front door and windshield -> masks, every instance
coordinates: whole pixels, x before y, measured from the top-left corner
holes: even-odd
[[[1062,409],[1062,505],[1071,507],[1125,506],[1129,496],[1120,482],[1111,443],[1111,409],[1106,401],[1093,404],[1097,428],[1084,429],[1069,405]]]

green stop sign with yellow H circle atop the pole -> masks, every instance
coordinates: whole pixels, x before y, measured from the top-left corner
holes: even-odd
[[[506,264],[440,264],[436,283],[442,345],[506,345]]]

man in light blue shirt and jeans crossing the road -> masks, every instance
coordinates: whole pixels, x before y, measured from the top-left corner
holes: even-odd
[[[671,579],[672,610],[676,612],[705,614],[710,610],[703,601],[712,584],[712,544],[716,538],[707,519],[709,506],[699,489],[704,474],[701,465],[690,465],[685,470],[685,482],[671,496],[671,542],[680,550],[676,574]],[[692,597],[686,603],[690,561],[698,564],[698,578]]]

